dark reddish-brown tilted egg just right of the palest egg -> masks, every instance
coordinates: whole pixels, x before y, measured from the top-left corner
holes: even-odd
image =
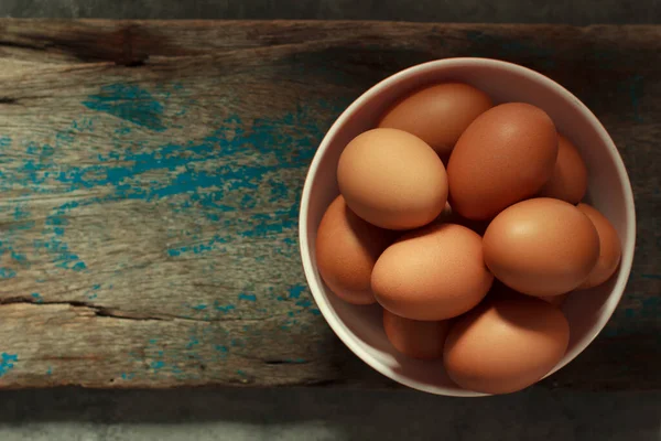
[[[508,103],[473,121],[447,164],[449,204],[469,219],[488,219],[535,194],[551,178],[557,133],[534,106]]]

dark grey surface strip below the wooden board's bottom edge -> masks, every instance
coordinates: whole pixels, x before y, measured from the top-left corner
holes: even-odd
[[[456,399],[343,389],[3,391],[13,440],[659,440],[660,392]]]

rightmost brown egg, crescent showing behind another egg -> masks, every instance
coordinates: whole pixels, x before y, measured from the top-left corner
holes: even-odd
[[[579,289],[587,289],[604,283],[615,273],[622,257],[622,249],[615,227],[602,213],[587,204],[578,204],[578,209],[589,217],[599,235],[599,259],[597,265],[578,287]]]

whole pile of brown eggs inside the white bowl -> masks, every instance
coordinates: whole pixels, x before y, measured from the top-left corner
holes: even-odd
[[[344,149],[317,268],[344,301],[383,306],[402,354],[443,358],[469,390],[520,390],[566,352],[566,293],[619,265],[615,228],[581,203],[587,175],[542,109],[425,87]]]

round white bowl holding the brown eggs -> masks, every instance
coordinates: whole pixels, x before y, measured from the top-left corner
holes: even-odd
[[[339,194],[337,161],[357,135],[376,126],[398,98],[431,83],[459,80],[491,96],[495,103],[523,101],[544,109],[559,131],[583,155],[588,173],[586,200],[617,229],[622,244],[619,270],[608,282],[570,295],[563,311],[570,321],[571,341],[565,356],[548,374],[583,352],[615,311],[633,260],[636,213],[631,184],[622,160],[593,112],[557,83],[525,67],[487,58],[447,58],[399,72],[356,99],[335,121],[322,141],[307,173],[300,213],[301,257],[305,277],[322,314],[337,336],[365,363],[402,385],[431,394],[474,397],[445,374],[442,362],[423,362],[400,355],[388,342],[378,305],[355,306],[339,300],[324,284],[315,262],[315,237],[328,204]]]

